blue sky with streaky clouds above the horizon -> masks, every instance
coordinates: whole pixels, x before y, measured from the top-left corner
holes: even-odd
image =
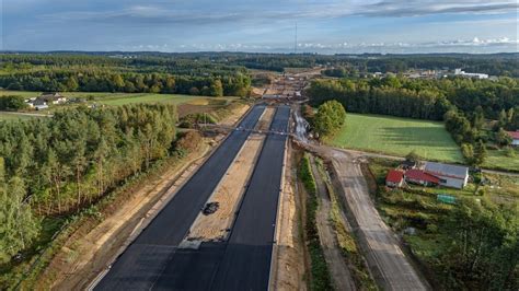
[[[0,0],[0,48],[514,53],[518,9],[518,0]]]

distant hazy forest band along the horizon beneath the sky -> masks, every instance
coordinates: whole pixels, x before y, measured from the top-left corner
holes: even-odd
[[[173,74],[197,74],[215,72],[223,75],[244,68],[284,72],[286,68],[334,67],[344,69],[348,75],[367,72],[400,73],[411,69],[454,70],[492,75],[519,77],[517,54],[434,54],[434,55],[318,55],[318,54],[251,54],[251,53],[47,53],[0,54],[0,63],[25,66],[89,66],[105,65],[126,67],[140,72],[169,72]],[[0,68],[2,65],[0,65]],[[332,71],[331,71],[332,72]],[[343,75],[336,75],[343,77]]]

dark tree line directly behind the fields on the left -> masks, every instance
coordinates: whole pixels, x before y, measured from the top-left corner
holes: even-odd
[[[207,96],[245,96],[251,79],[242,73],[224,77],[186,77],[164,73],[37,71],[0,75],[8,90],[48,92],[177,93]]]

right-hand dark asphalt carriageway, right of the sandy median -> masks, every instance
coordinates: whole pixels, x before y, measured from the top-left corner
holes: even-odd
[[[288,132],[290,107],[278,107],[272,131]],[[268,290],[286,135],[265,140],[211,290]]]

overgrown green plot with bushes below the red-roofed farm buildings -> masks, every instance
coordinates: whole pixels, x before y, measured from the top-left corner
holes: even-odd
[[[495,176],[476,175],[472,177],[476,184],[461,190],[388,189],[385,174],[394,165],[380,159],[369,164],[378,185],[377,207],[431,282],[446,290],[517,290],[519,196],[499,188],[517,188],[519,181],[506,178],[497,186]],[[449,194],[455,202],[442,203],[437,194]]]

